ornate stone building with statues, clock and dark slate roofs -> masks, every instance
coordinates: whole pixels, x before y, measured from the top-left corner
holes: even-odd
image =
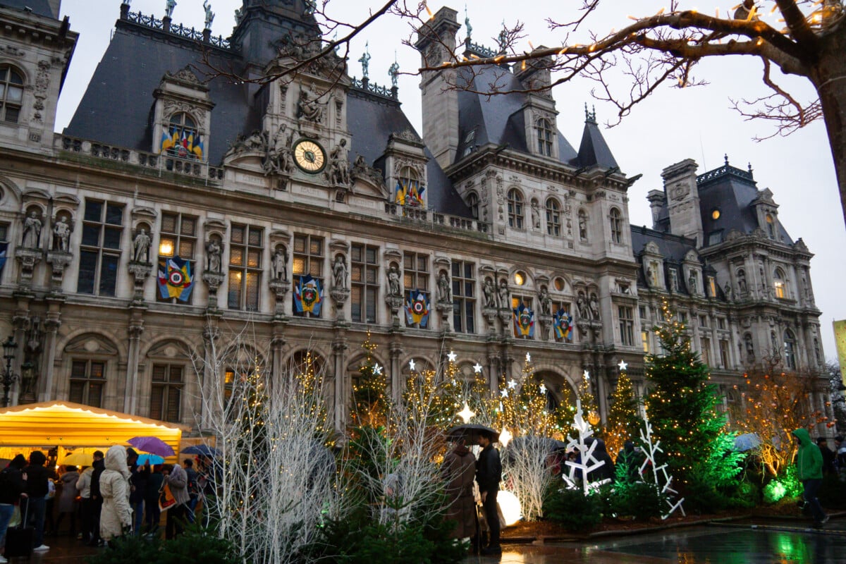
[[[728,391],[767,358],[821,366],[810,252],[751,171],[667,167],[653,228],[631,227],[637,178],[594,115],[576,150],[546,92],[443,88],[548,84],[542,63],[424,73],[420,137],[396,85],[319,56],[310,3],[244,0],[228,40],[123,4],[80,107],[53,134],[76,36],[58,0],[29,4],[0,7],[21,30],[0,52],[0,335],[21,345],[23,375],[13,404],[201,423],[201,386],[238,377],[221,336],[250,324],[251,359],[272,378],[307,353],[326,370],[338,426],[367,331],[394,392],[412,360],[436,367],[455,351],[494,389],[530,353],[551,401],[588,370],[605,413],[620,360],[642,384],[662,298]],[[420,32],[425,60],[455,44],[456,15],[442,8]],[[294,79],[197,71],[255,78],[306,59]],[[212,343],[223,376],[198,377]]]

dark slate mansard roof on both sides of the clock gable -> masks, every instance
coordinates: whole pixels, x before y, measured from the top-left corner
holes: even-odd
[[[165,73],[175,73],[188,65],[204,68],[203,48],[209,49],[210,62],[218,68],[233,68],[236,73],[244,68],[245,62],[237,52],[200,46],[195,41],[118,19],[113,39],[64,134],[136,151],[153,151],[153,91]],[[211,110],[211,131],[205,140],[206,153],[209,162],[217,164],[238,134],[261,128],[266,101],[262,103],[264,92],[256,85],[236,85],[222,77],[211,79],[207,85],[215,106]],[[355,155],[362,155],[373,164],[382,157],[390,134],[414,131],[397,101],[356,89],[350,90],[347,119],[352,134],[351,161]],[[428,149],[426,156],[429,205],[442,213],[470,217],[469,208]]]

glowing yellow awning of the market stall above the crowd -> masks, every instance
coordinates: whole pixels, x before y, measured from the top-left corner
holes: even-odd
[[[71,402],[28,403],[0,409],[0,446],[122,445],[134,436],[157,436],[179,452],[190,427]]]

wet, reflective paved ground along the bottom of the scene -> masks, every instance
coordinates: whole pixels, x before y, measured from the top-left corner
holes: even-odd
[[[51,549],[14,564],[85,562],[97,549],[69,537],[50,538]],[[503,556],[474,556],[464,564],[846,564],[846,518],[825,530],[803,523],[738,522],[673,528],[625,537],[549,545],[503,545]]]

